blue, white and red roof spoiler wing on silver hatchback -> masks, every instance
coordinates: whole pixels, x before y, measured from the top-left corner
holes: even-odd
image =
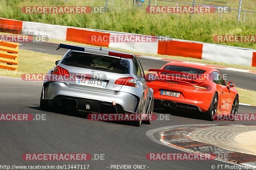
[[[71,49],[71,50],[76,50],[76,51],[83,51],[83,52],[87,52],[87,53],[95,53],[95,54],[101,54],[101,55],[110,55],[110,56],[114,56],[114,57],[122,57],[122,58],[133,59],[133,55],[132,54],[108,52],[108,51],[102,51],[102,49],[101,50],[97,50],[97,49],[90,49],[90,48],[72,46],[72,45],[67,45],[67,44],[59,44],[58,48],[56,50],[58,50],[60,48]]]

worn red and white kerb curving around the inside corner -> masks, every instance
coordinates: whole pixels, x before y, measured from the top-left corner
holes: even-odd
[[[256,168],[256,156],[228,151],[226,149],[202,143],[196,140],[191,139],[189,134],[197,129],[203,128],[212,128],[212,127],[221,127],[221,126],[244,126],[244,125],[234,125],[234,124],[199,124],[199,125],[176,125],[168,126],[163,128],[157,128],[149,130],[146,135],[153,141],[158,144],[162,144],[183,152],[192,152],[192,153],[213,153],[215,155],[221,155],[225,153],[225,159],[221,156],[216,157],[216,160],[222,162],[228,162],[230,164],[249,166],[253,169]],[[248,125],[255,126],[255,125]],[[231,127],[232,128],[232,127]],[[161,138],[156,138],[154,133],[161,132]],[[158,136],[158,135],[157,135]]]

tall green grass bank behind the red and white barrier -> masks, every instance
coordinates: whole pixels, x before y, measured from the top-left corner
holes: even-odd
[[[180,0],[192,2],[192,0]],[[216,43],[214,35],[256,35],[256,14],[247,13],[246,22],[237,23],[237,11],[223,14],[149,14],[145,11],[148,1],[142,9],[135,8],[132,0],[108,0],[108,12],[103,14],[25,14],[23,6],[105,6],[105,0],[2,0],[0,17],[25,21],[42,22],[64,26],[76,26],[128,33],[148,35],[168,35],[177,39]],[[196,0],[202,3],[203,0]],[[228,0],[228,6],[238,8],[239,0]],[[155,1],[151,0],[151,5]],[[249,4],[251,3],[251,4]],[[157,1],[157,5],[176,5],[166,1]],[[182,4],[179,4],[182,5]],[[184,5],[184,4],[183,4]],[[244,9],[255,9],[252,0],[243,0]],[[256,49],[256,43],[218,43]]]

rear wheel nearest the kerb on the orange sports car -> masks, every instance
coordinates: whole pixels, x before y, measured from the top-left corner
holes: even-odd
[[[211,105],[209,106],[209,109],[204,113],[205,119],[208,121],[213,121],[215,116],[217,115],[218,110],[218,95],[214,93],[212,97]]]

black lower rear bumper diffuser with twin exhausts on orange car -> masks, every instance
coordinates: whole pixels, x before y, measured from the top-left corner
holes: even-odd
[[[191,103],[177,102],[172,100],[154,99],[154,106],[161,108],[175,108],[180,110],[186,110],[191,112],[206,112],[200,108],[200,105]]]

